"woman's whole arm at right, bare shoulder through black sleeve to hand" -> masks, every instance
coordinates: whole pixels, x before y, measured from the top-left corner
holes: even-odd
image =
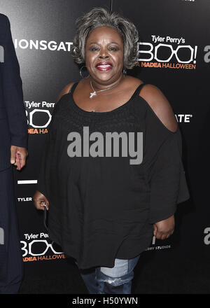
[[[153,166],[149,215],[155,237],[166,239],[174,232],[176,204],[190,197],[181,161],[181,133],[172,106],[158,87],[145,85],[141,97],[148,102],[169,133]]]

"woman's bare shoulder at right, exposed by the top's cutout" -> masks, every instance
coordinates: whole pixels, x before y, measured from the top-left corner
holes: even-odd
[[[174,115],[171,104],[165,97],[165,94],[156,87],[156,85],[146,84],[142,87],[140,97],[143,97],[146,102],[151,106],[154,113],[165,127],[171,132],[176,132],[178,123]]]

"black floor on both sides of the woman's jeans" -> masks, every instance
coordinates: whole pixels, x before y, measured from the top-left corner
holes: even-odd
[[[78,268],[71,258],[60,266],[59,272],[46,263],[39,272],[25,266],[25,279],[20,294],[88,294]],[[43,268],[41,268],[43,267]],[[48,270],[47,270],[48,267]],[[56,269],[59,268],[57,263]],[[132,294],[209,294],[210,262],[206,258],[155,258],[144,253],[134,269]]]

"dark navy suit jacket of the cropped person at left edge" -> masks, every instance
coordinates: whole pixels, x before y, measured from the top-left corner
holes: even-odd
[[[10,167],[10,146],[27,148],[27,137],[20,66],[10,22],[0,14],[0,171]]]

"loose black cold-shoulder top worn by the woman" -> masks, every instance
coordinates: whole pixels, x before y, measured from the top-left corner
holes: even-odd
[[[50,239],[80,269],[113,267],[115,258],[145,251],[153,223],[189,199],[181,132],[168,130],[139,96],[144,84],[107,112],[80,109],[76,85],[52,112],[37,190],[50,202]]]

